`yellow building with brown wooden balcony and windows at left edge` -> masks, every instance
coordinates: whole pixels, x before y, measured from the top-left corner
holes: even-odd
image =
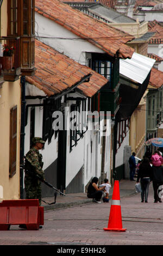
[[[34,1],[1,1],[0,198],[20,198],[21,83],[34,71]]]

